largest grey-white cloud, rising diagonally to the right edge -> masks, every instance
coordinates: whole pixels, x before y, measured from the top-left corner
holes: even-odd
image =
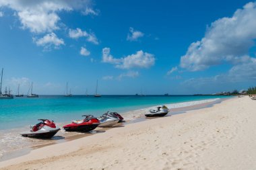
[[[180,66],[189,71],[201,71],[222,62],[238,65],[250,61],[246,55],[255,46],[255,16],[256,3],[247,3],[232,17],[216,20],[207,28],[204,38],[189,46],[181,57]]]

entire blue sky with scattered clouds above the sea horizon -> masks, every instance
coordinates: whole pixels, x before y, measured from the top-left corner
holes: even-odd
[[[0,0],[3,89],[185,95],[256,85],[255,1]],[[3,91],[2,89],[2,91]]]

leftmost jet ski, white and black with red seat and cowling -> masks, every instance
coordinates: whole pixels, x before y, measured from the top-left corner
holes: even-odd
[[[31,138],[51,138],[53,137],[59,130],[61,130],[58,126],[55,125],[53,120],[48,119],[38,119],[42,122],[34,126],[30,126],[30,132],[22,132],[21,135],[24,137]]]

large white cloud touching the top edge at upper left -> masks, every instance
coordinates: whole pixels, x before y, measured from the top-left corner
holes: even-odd
[[[1,0],[0,7],[8,7],[17,12],[22,28],[30,32],[42,33],[53,32],[59,29],[58,23],[61,20],[58,13],[61,11],[82,11],[92,9],[90,0],[44,0],[44,1],[9,1]],[[91,10],[92,13],[93,9]]]

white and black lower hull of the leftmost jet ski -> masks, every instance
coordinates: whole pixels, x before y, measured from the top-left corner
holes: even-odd
[[[52,138],[59,130],[61,129],[49,130],[47,132],[24,132],[21,135],[30,138]]]

